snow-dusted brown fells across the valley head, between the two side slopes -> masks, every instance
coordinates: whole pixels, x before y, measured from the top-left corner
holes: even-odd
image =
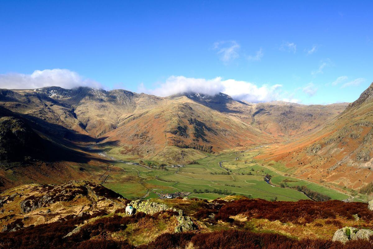
[[[220,152],[283,141],[288,136],[319,127],[345,107],[343,103],[328,106],[286,102],[250,104],[237,102],[222,93],[215,96],[189,93],[164,98],[87,87],[1,90],[0,102],[79,146],[117,147],[118,153],[134,158],[151,159],[163,153],[170,155],[167,162],[183,163],[190,157],[184,156],[188,153],[181,149]]]

